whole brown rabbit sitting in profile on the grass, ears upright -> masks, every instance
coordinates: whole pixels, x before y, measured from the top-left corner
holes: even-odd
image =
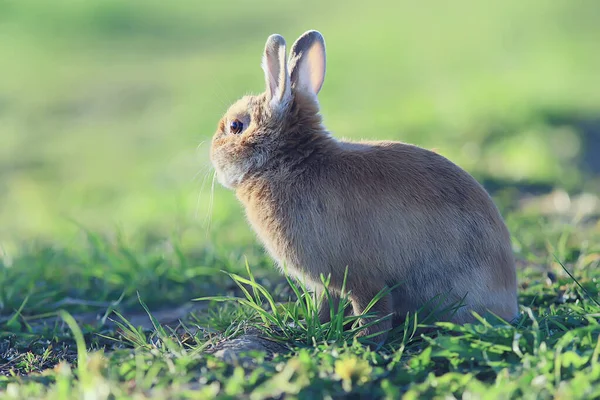
[[[262,67],[266,92],[230,107],[211,160],[281,267],[317,293],[321,274],[330,275],[334,302],[347,268],[355,315],[395,286],[371,312],[403,318],[441,296],[463,307],[440,319],[474,321],[472,311],[517,316],[510,235],[473,177],[420,147],[331,136],[317,100],[325,77],[319,32],[294,43],[289,64],[283,37],[270,36]],[[322,321],[329,306],[319,310]],[[382,341],[391,328],[383,319],[362,334]]]

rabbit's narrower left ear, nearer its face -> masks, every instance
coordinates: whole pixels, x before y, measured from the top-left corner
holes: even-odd
[[[290,74],[285,59],[285,39],[280,35],[271,35],[265,45],[262,60],[267,83],[267,97],[273,108],[287,104],[291,97]]]

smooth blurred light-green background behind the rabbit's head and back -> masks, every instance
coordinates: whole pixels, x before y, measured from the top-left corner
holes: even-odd
[[[436,148],[489,187],[597,191],[598,21],[593,0],[0,1],[0,247],[77,224],[252,242],[233,193],[210,208],[210,138],[263,90],[267,36],[308,29],[334,135]]]

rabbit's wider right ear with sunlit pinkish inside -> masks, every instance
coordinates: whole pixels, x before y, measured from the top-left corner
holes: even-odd
[[[305,32],[296,40],[290,52],[290,80],[294,89],[315,96],[325,79],[325,39],[317,31]]]

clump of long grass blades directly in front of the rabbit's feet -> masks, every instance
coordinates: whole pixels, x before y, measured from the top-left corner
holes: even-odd
[[[386,318],[391,318],[392,315],[375,316],[371,310],[382,297],[387,296],[401,285],[399,283],[394,287],[381,290],[365,307],[365,311],[361,315],[355,316],[348,312],[351,310],[351,303],[350,292],[346,291],[347,269],[342,284],[342,296],[337,305],[334,304],[328,289],[329,278],[324,276],[321,276],[324,290],[319,296],[316,296],[302,281],[295,281],[286,275],[287,284],[295,299],[278,303],[269,289],[257,282],[247,262],[246,272],[248,278],[235,273],[227,273],[244,297],[208,296],[195,300],[236,303],[252,312],[252,315],[248,316],[247,322],[252,321],[251,325],[263,334],[278,341],[304,346],[315,346],[319,343],[334,345],[350,343],[364,329]],[[436,315],[452,315],[463,306],[464,299],[449,305],[446,300],[446,296],[437,296],[421,309],[407,314],[404,324],[389,332],[391,337],[389,345],[392,347],[406,345],[415,337],[419,329],[434,328]],[[330,320],[321,323],[318,315],[319,307],[325,301],[329,302]],[[360,337],[359,341],[374,345],[375,343],[372,343],[370,339],[375,335],[377,333]]]

